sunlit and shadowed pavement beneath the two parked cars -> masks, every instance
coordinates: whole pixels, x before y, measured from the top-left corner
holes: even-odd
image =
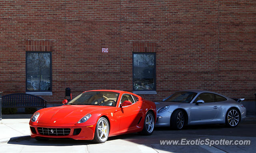
[[[3,115],[0,121],[0,153],[255,153],[256,148],[255,116],[246,117],[246,121],[236,128],[226,128],[224,125],[194,125],[178,131],[167,127],[156,128],[150,136],[131,133],[109,137],[102,144],[88,140],[37,141],[30,137],[28,122],[31,116]],[[200,144],[202,141],[205,143]],[[207,141],[214,144],[209,145]],[[250,141],[250,145],[220,144],[224,141]]]

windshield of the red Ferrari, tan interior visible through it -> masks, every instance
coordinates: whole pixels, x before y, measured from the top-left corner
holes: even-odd
[[[116,106],[119,93],[111,91],[88,91],[81,93],[66,105]]]

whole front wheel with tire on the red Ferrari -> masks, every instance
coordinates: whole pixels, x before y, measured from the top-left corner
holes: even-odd
[[[101,117],[96,125],[94,139],[95,143],[104,143],[108,139],[109,125],[108,120],[105,117]]]

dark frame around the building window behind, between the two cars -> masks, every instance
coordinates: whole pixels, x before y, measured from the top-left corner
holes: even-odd
[[[134,54],[154,55],[154,89],[134,89]],[[156,91],[156,53],[155,52],[132,52],[132,91]]]

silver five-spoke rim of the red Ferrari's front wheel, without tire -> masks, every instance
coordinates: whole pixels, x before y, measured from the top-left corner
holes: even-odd
[[[102,119],[100,121],[100,123],[98,124],[98,136],[100,138],[101,141],[106,141],[106,139],[108,139],[108,121],[106,121],[105,119]]]

